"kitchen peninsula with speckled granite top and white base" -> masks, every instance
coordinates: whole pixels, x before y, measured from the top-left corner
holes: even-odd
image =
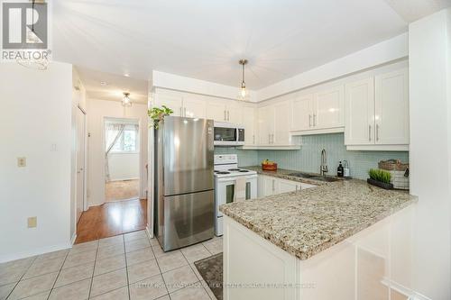
[[[222,205],[225,299],[389,299],[410,286],[414,203],[352,179]]]

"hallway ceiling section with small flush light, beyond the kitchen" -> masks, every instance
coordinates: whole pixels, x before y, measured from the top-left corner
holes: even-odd
[[[147,80],[99,72],[89,68],[77,67],[77,70],[87,90],[88,98],[122,101],[124,92],[129,92],[133,103],[147,103]]]

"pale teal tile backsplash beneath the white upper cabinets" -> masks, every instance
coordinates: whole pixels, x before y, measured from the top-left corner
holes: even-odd
[[[348,151],[344,133],[318,134],[302,137],[300,150],[238,150],[216,147],[215,154],[238,154],[240,167],[260,165],[263,159],[271,159],[279,168],[319,173],[321,150],[327,151],[328,175],[336,175],[339,161],[347,160],[351,176],[366,179],[368,169],[377,168],[380,160],[400,159],[409,162],[408,151]]]

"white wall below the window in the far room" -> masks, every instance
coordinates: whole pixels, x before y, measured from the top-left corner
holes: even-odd
[[[108,168],[111,180],[138,179],[140,177],[139,152],[110,153]]]

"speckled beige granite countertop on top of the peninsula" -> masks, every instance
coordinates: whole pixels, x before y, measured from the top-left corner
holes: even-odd
[[[308,259],[417,201],[363,180],[220,206],[220,211],[299,259]]]

